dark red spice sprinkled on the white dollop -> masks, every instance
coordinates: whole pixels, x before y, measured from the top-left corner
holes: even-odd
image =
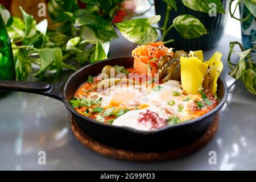
[[[150,129],[159,129],[167,125],[166,119],[160,118],[158,113],[146,110],[146,113],[140,113],[138,122],[149,126]]]

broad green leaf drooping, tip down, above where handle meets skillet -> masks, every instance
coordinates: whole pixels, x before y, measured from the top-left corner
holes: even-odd
[[[41,61],[41,67],[39,72],[35,73],[33,76],[42,77],[44,76],[44,73],[46,73],[49,65],[51,65],[53,60],[55,59],[55,52],[51,48],[41,48],[38,49],[38,51]]]

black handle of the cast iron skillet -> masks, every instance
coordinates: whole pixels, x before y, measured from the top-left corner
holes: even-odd
[[[0,80],[0,90],[35,93],[60,101],[62,101],[62,86],[63,83],[50,85],[46,82]]]

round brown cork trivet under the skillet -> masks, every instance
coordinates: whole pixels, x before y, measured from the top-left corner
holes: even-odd
[[[205,144],[207,144],[210,139],[214,137],[214,134],[218,129],[218,114],[215,115],[212,123],[210,123],[205,133],[201,135],[200,138],[196,139],[195,142],[185,147],[162,152],[135,152],[106,146],[105,144],[97,142],[96,140],[88,137],[88,135],[81,131],[73,118],[71,118],[71,128],[73,133],[75,134],[75,137],[82,144],[84,144],[91,150],[98,152],[99,154],[121,160],[153,162],[159,160],[179,158],[181,156],[191,154],[192,152],[195,152],[196,150],[199,150],[201,147],[205,146]]]

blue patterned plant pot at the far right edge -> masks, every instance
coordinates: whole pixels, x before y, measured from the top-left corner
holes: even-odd
[[[240,19],[250,13],[243,1],[240,2]],[[256,46],[256,18],[251,15],[245,22],[241,22],[242,45],[245,49]],[[251,51],[251,58],[256,61],[256,49]]]

